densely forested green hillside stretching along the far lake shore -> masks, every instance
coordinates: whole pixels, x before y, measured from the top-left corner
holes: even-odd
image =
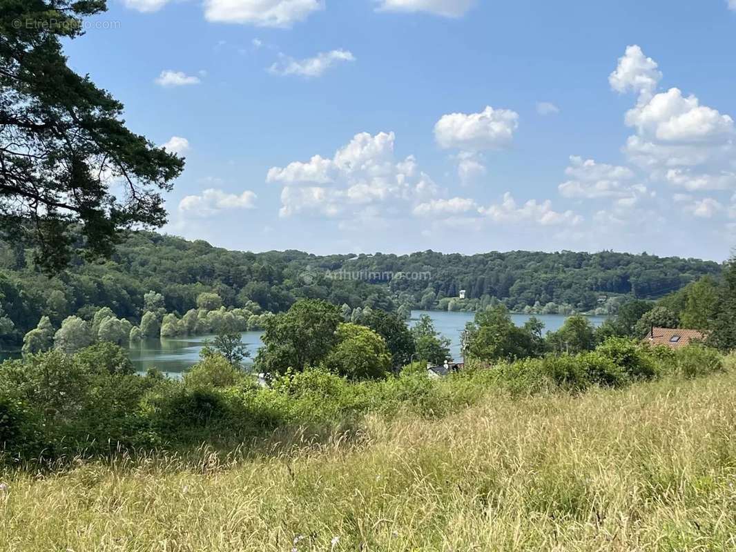
[[[4,241],[0,332],[3,342],[17,344],[41,316],[58,327],[70,315],[91,320],[102,307],[137,323],[149,291],[163,296],[163,311],[179,316],[198,308],[197,299],[205,293],[217,294],[225,308],[252,312],[282,312],[309,298],[328,300],[344,311],[476,311],[502,302],[511,311],[615,314],[624,299],[657,299],[720,273],[718,263],[647,254],[316,256],[229,251],[205,241],[132,232],[107,261],[74,257],[66,270],[49,277],[32,250]]]

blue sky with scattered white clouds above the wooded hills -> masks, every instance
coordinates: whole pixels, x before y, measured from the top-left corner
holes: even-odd
[[[108,0],[71,66],[239,250],[736,245],[736,0]]]

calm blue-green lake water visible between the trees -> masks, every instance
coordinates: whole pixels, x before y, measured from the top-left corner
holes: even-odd
[[[445,312],[445,311],[411,311],[410,325],[416,324],[422,314],[428,314],[434,322],[434,327],[439,333],[450,339],[450,354],[456,361],[462,358],[460,351],[460,334],[467,322],[471,322],[475,316],[467,312]],[[545,332],[556,331],[562,327],[566,316],[562,314],[537,314],[539,320],[545,325]],[[517,325],[523,325],[531,315],[512,314],[512,320]],[[601,325],[605,318],[603,316],[590,316],[593,325]],[[252,363],[258,348],[263,345],[261,341],[263,332],[244,332],[243,342],[250,351]],[[169,375],[177,376],[185,372],[189,367],[199,360],[199,351],[202,350],[205,341],[213,339],[213,336],[181,337],[173,339],[154,339],[141,342],[140,346],[130,348],[130,361],[138,372],[145,373],[149,368],[158,368]],[[15,354],[0,353],[0,359],[17,357]]]

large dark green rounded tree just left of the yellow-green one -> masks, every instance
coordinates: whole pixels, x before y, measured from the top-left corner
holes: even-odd
[[[289,368],[301,372],[319,365],[335,346],[341,323],[335,305],[314,299],[297,301],[288,312],[266,322],[256,366],[264,373],[283,374]]]

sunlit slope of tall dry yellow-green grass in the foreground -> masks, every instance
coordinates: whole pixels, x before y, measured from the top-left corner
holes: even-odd
[[[5,473],[2,551],[736,549],[736,374],[489,394],[327,445]],[[275,450],[291,450],[289,453]]]

